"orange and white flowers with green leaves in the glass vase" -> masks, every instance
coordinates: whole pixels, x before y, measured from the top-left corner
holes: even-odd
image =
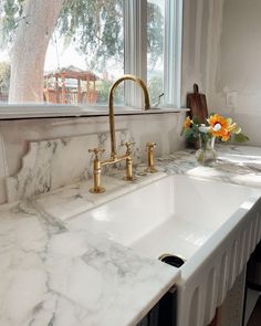
[[[225,118],[219,114],[211,114],[206,119],[206,124],[200,124],[197,117],[191,119],[188,116],[184,122],[181,135],[189,141],[200,140],[202,144],[207,144],[212,138],[218,138],[221,141],[233,138],[239,143],[249,140],[248,136],[241,133],[240,126],[231,118]]]

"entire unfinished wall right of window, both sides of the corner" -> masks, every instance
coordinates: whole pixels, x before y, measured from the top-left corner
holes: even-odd
[[[248,145],[261,146],[261,1],[185,0],[184,7],[184,105],[198,83],[209,112],[234,117]]]

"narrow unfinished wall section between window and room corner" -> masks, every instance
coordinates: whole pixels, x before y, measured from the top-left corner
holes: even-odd
[[[223,0],[184,0],[181,102],[194,83],[209,97],[217,67]]]

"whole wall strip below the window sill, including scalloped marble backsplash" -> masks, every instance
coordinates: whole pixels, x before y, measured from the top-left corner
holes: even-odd
[[[136,167],[146,159],[147,141],[157,144],[155,157],[182,148],[184,116],[184,112],[115,116],[118,150],[125,151],[122,141],[135,140]],[[106,148],[104,158],[108,158],[107,116],[0,120],[0,203],[85,179],[91,171],[87,150],[97,146]]]

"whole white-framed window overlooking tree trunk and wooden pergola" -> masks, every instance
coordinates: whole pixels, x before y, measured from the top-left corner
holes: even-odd
[[[24,3],[0,3],[0,103],[102,106],[130,73],[147,82],[152,104],[179,105],[181,0]],[[125,84],[116,104],[140,106]]]

